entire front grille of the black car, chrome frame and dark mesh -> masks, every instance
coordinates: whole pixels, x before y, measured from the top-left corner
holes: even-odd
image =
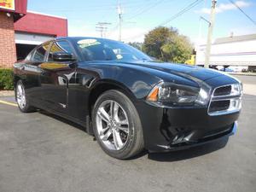
[[[209,115],[235,113],[241,108],[241,85],[229,84],[217,87],[212,92],[208,106]]]

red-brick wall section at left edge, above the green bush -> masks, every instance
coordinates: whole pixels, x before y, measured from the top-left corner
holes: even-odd
[[[12,67],[15,61],[14,18],[0,12],[0,67]]]

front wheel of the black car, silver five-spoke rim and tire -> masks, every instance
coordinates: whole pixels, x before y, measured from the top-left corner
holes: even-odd
[[[143,128],[137,109],[122,92],[108,90],[97,99],[92,123],[96,140],[108,155],[125,160],[143,150]]]

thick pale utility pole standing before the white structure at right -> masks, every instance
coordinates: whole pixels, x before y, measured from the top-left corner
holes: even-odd
[[[206,59],[205,59],[205,67],[209,68],[210,62],[210,55],[211,55],[211,46],[212,46],[212,31],[215,22],[215,10],[216,10],[216,3],[217,0],[212,0],[212,9],[211,9],[211,16],[210,22],[208,26],[208,35],[207,35],[207,48],[206,48]]]

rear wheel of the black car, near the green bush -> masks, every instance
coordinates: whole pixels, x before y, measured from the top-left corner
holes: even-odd
[[[24,84],[22,84],[22,81],[19,80],[16,85],[15,89],[15,96],[18,103],[18,107],[20,108],[20,111],[22,113],[30,113],[35,112],[36,108],[33,108],[26,97],[26,92],[24,88]]]

